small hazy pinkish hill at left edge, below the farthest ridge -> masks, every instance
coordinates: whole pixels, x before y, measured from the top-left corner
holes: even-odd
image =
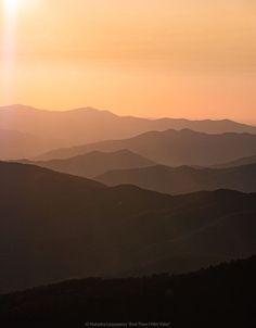
[[[57,144],[56,140],[47,140],[20,131],[0,129],[0,160],[36,156],[57,147]]]

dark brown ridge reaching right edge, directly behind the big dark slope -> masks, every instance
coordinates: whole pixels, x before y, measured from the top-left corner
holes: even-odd
[[[140,188],[172,194],[217,189],[256,192],[256,164],[230,168],[157,165],[110,171],[95,177],[95,180],[107,186],[131,184]]]

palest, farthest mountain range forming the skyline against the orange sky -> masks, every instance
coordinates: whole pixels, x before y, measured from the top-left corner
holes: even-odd
[[[89,142],[124,139],[150,130],[190,128],[196,131],[248,133],[256,134],[256,127],[236,122],[223,121],[189,121],[175,118],[146,119],[132,116],[118,116],[108,111],[86,108],[72,111],[42,111],[24,105],[0,108],[0,130],[13,130],[46,139],[43,148],[29,148],[24,140],[24,152],[21,143],[12,143],[10,159],[31,157],[53,148],[72,147]],[[0,159],[5,159],[0,148]]]

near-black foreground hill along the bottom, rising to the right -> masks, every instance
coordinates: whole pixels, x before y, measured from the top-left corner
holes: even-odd
[[[183,276],[71,280],[0,297],[0,325],[253,328],[255,276],[254,256]]]

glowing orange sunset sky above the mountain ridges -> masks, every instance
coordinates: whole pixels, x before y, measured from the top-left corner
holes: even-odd
[[[255,0],[0,0],[0,105],[256,124]]]

